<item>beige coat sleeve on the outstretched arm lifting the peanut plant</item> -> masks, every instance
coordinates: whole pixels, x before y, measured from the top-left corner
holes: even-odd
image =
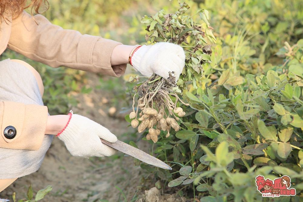
[[[51,67],[73,69],[120,77],[126,64],[111,65],[112,51],[122,44],[98,36],[53,25],[43,15],[23,11],[12,21],[8,48]]]

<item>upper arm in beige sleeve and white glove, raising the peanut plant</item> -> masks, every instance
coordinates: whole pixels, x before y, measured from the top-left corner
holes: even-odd
[[[53,25],[44,16],[25,11],[13,20],[8,48],[51,67],[66,66],[120,77],[135,46],[99,36],[82,35],[75,30]],[[133,54],[133,67],[145,76],[153,73],[176,80],[185,65],[183,48],[168,42],[143,45]]]

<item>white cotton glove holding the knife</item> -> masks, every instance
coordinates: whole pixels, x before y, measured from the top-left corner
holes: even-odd
[[[100,138],[115,142],[117,137],[97,122],[78,114],[72,114],[67,127],[58,137],[73,156],[104,157],[116,152],[102,144]]]

